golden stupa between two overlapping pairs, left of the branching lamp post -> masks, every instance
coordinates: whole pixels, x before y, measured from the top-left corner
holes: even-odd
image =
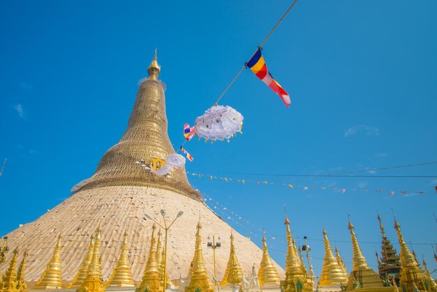
[[[106,284],[107,287],[133,287],[131,263],[129,262],[128,233],[124,232],[123,245],[120,256],[112,271],[112,275]]]

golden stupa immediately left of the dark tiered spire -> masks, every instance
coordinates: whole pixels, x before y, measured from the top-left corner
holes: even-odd
[[[348,228],[350,230],[350,238],[352,239],[353,248],[353,269],[350,272],[346,291],[360,289],[360,291],[397,291],[394,286],[384,286],[382,279],[369,268],[366,258],[364,258],[360,244],[358,244],[355,235],[354,226],[349,219]]]

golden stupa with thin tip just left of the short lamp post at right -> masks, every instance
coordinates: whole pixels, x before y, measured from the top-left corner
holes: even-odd
[[[290,231],[290,221],[286,217],[287,232],[287,258],[286,258],[286,282],[284,290],[286,292],[312,292],[313,284],[311,278],[305,275],[302,268],[302,261],[297,254],[295,240],[292,238]]]

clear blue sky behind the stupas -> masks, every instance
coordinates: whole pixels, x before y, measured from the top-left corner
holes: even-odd
[[[184,123],[214,103],[290,3],[0,1],[0,159],[8,158],[0,233],[35,220],[94,173],[126,128],[154,48],[178,147]],[[369,242],[362,243],[364,255],[376,265],[377,211],[397,242],[391,208],[406,240],[437,268],[430,245],[436,178],[224,174],[313,175],[437,161],[435,15],[432,0],[299,1],[263,50],[290,108],[246,70],[221,101],[244,115],[243,135],[186,145],[195,158],[190,172],[274,184],[190,176],[191,184],[249,220],[230,224],[258,245],[265,227],[282,265],[285,204],[295,236],[310,239],[318,275],[323,224],[350,268],[350,213],[358,240]],[[437,175],[437,165],[363,175]],[[425,194],[401,196],[403,190]]]

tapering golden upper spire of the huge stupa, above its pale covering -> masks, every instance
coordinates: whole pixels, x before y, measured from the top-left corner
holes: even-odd
[[[165,164],[167,156],[175,153],[168,138],[165,89],[163,82],[158,80],[161,66],[156,51],[147,72],[149,77],[142,81],[138,89],[124,135],[103,155],[94,175],[80,184],[78,191],[110,186],[143,186],[175,191],[200,200],[198,191],[188,183],[184,167],[175,169],[171,178],[145,169],[151,167],[158,170]]]

